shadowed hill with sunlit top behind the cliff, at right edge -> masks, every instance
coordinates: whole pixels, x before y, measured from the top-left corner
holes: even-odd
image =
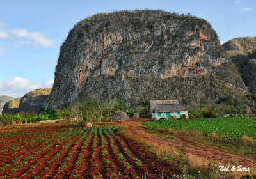
[[[222,47],[237,66],[250,92],[256,93],[256,37],[234,38]]]

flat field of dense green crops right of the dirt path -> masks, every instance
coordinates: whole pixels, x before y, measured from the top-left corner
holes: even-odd
[[[255,117],[200,118],[196,120],[154,120],[145,123],[148,129],[196,130],[202,134],[216,133],[227,139],[248,136],[256,141]]]

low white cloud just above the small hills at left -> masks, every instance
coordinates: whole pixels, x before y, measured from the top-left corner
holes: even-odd
[[[0,95],[9,95],[11,97],[22,97],[26,93],[38,88],[50,88],[54,80],[42,82],[31,82],[22,77],[13,77],[10,81],[0,81]]]

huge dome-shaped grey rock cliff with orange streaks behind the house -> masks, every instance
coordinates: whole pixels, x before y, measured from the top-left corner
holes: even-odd
[[[206,102],[244,92],[203,19],[154,10],[101,13],[78,22],[60,49],[46,109],[86,99]]]

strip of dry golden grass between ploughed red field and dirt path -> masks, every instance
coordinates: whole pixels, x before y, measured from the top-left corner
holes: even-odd
[[[182,175],[180,175],[179,178],[231,179],[240,178],[241,176],[246,175],[246,173],[241,173],[238,171],[221,172],[219,169],[220,164],[218,162],[214,162],[213,160],[206,159],[204,157],[198,157],[193,154],[186,154],[182,147],[175,148],[166,144],[159,146],[159,143],[157,143],[157,141],[141,138],[140,136],[134,135],[131,131],[127,129],[121,130],[121,134],[142,144],[145,148],[150,150],[150,152],[155,153],[159,159],[168,160],[173,164],[178,164],[180,169],[182,170]],[[163,136],[163,134],[157,133],[155,133],[155,135]],[[230,166],[231,164],[226,165]],[[252,172],[250,172],[250,174],[252,175]]]

